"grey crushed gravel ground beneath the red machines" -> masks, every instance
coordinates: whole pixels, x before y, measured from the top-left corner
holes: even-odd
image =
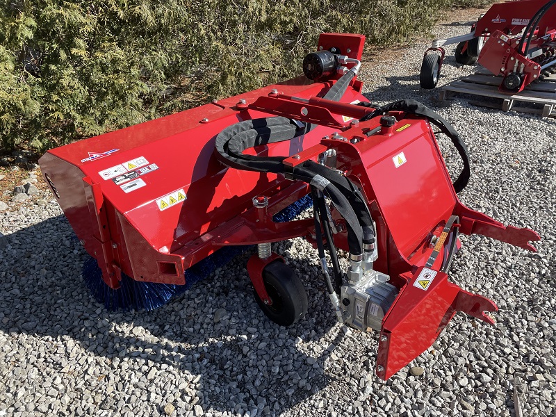
[[[466,33],[465,20],[435,34]],[[0,416],[513,416],[514,387],[523,415],[556,414],[555,121],[458,98],[439,108],[438,92],[418,87],[427,44],[367,59],[361,79],[379,104],[414,98],[436,108],[471,152],[462,201],[541,234],[537,254],[462,238],[451,279],[498,303],[495,327],[459,313],[381,382],[376,334],[336,324],[316,252],[300,239],[275,247],[309,294],[309,313],[291,328],[245,302],[247,255],[157,311],[109,313],[88,295],[85,254],[42,188],[23,202],[4,195],[0,207]],[[447,49],[441,83],[473,71]]]

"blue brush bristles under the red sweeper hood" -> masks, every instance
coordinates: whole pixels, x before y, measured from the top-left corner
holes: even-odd
[[[272,220],[287,222],[295,218],[306,208],[313,206],[310,195],[306,195],[293,204],[276,213]],[[83,279],[95,299],[104,304],[106,309],[115,310],[154,310],[163,306],[174,297],[187,291],[193,284],[211,275],[216,268],[220,268],[236,256],[243,254],[251,246],[227,246],[207,256],[186,270],[186,284],[158,284],[156,282],[136,281],[122,273],[120,288],[113,290],[102,279],[102,271],[97,260],[90,256],[83,263]]]

